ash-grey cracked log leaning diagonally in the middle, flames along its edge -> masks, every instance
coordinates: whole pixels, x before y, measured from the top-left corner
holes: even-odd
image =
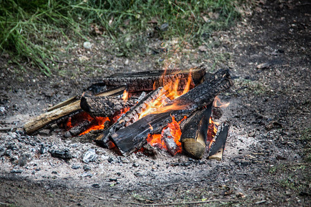
[[[102,146],[108,148],[107,143],[109,142],[110,136],[117,130],[129,126],[133,122],[137,121],[139,115],[147,108],[147,106],[158,99],[158,97],[162,94],[162,88],[158,88],[149,92],[143,99],[140,100],[135,106],[131,108],[128,112],[126,112],[120,119],[115,122],[110,128],[104,131],[104,133],[95,139],[97,144],[101,144]],[[170,101],[167,99],[166,101]]]

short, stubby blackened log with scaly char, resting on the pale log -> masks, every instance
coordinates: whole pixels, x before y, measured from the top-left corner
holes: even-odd
[[[136,101],[137,99],[134,98],[124,101],[118,97],[95,97],[84,94],[81,97],[80,106],[92,117],[112,117],[115,112],[123,108],[131,108]]]

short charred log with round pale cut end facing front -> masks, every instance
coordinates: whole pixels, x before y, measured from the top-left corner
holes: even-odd
[[[207,106],[207,109],[196,112],[194,116],[189,117],[182,130],[180,137],[182,148],[195,159],[201,159],[205,153],[211,106],[212,103]]]

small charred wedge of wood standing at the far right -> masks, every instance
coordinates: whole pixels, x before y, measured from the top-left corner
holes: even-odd
[[[225,143],[229,132],[229,122],[225,121],[218,126],[217,133],[214,137],[214,142],[209,148],[208,159],[217,159],[221,161],[223,159],[223,150],[225,149]]]

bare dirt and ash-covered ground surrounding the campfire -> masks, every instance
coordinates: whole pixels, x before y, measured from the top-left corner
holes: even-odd
[[[310,206],[310,11],[308,1],[260,1],[232,28],[214,32],[211,47],[186,44],[170,57],[115,57],[101,37],[90,40],[91,50],[68,43],[51,77],[18,72],[1,56],[0,127],[14,129],[0,132],[0,206]],[[162,48],[158,39],[146,44]],[[222,120],[232,124],[223,161],[164,151],[121,157],[55,128],[32,136],[19,128],[100,77],[174,61],[211,72],[216,59],[214,71],[230,68],[235,83],[220,96],[230,102]],[[73,155],[67,161],[46,152],[65,148]],[[85,164],[90,148],[97,160]]]

